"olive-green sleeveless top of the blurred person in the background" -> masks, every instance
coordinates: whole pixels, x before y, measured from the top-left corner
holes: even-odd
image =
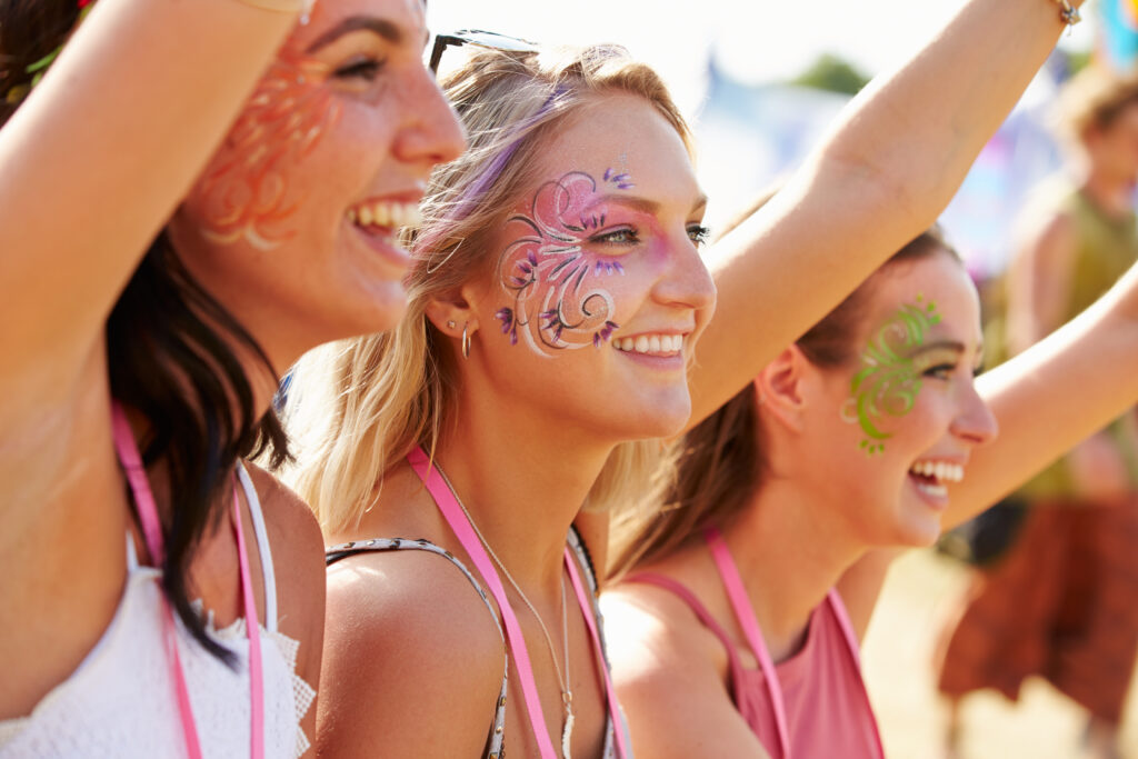
[[[1111,289],[1138,261],[1138,223],[1133,213],[1107,215],[1086,193],[1067,183],[1048,187],[1044,205],[1069,217],[1074,226],[1075,248],[1062,311],[1062,323],[1066,323]],[[1130,413],[1115,420],[1107,432],[1127,463],[1131,485],[1138,487],[1138,452],[1132,444],[1135,421]],[[1059,459],[1037,475],[1020,494],[1031,500],[1075,495],[1066,460]]]

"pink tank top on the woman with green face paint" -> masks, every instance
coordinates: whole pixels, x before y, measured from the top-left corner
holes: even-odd
[[[683,584],[654,574],[625,581],[675,594],[719,638],[727,652],[732,701],[773,759],[883,759],[877,721],[861,680],[857,638],[838,593],[831,591],[810,614],[801,651],[773,665],[726,542],[715,529],[707,541],[758,669],[743,667],[726,630]]]

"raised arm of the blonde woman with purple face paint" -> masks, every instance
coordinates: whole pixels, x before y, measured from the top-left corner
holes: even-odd
[[[1052,0],[972,0],[715,246],[719,302],[696,350],[692,426],[932,225],[1062,30]]]

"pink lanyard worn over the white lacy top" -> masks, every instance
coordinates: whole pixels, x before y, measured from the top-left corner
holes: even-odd
[[[112,404],[112,430],[118,460],[126,472],[134,504],[138,508],[139,521],[142,523],[142,536],[146,539],[150,561],[160,567],[165,555],[162,537],[162,523],[158,520],[158,509],[150,492],[150,482],[146,477],[146,468],[139,455],[134,434],[131,431],[126,414],[117,403]],[[246,627],[249,633],[249,698],[251,701],[250,757],[264,757],[264,680],[261,669],[261,630],[257,621],[257,604],[253,597],[253,584],[249,581],[249,562],[245,552],[245,536],[241,531],[241,512],[237,500],[237,481],[233,482],[233,530],[237,534],[238,560],[241,568],[241,600],[245,608]],[[185,675],[182,671],[182,660],[178,654],[178,635],[174,617],[165,595],[162,596],[163,633],[165,635],[167,661],[171,679],[178,698],[178,711],[182,720],[182,734],[185,739],[185,752],[190,759],[201,759],[201,744],[193,723],[193,709],[190,704],[190,693],[185,687]]]

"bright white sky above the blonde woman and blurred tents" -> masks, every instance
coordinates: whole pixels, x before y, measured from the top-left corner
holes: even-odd
[[[917,50],[963,5],[964,0],[429,0],[428,23],[435,31],[481,28],[538,42],[619,42],[657,68],[681,107],[694,114],[712,48],[744,81],[786,79],[822,52],[840,55],[873,74]],[[1081,24],[1061,44],[1089,48],[1090,26]]]

